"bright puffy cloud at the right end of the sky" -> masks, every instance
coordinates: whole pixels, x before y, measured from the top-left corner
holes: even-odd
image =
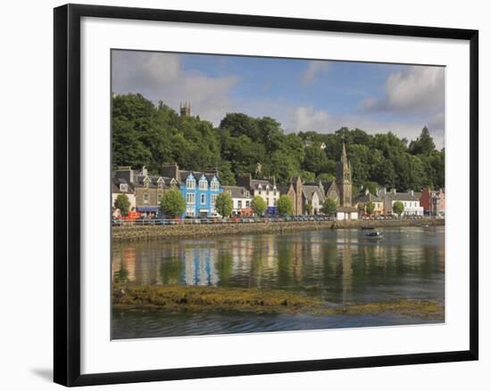
[[[386,96],[369,98],[362,107],[373,111],[399,114],[429,114],[444,110],[445,69],[412,66],[387,77]]]

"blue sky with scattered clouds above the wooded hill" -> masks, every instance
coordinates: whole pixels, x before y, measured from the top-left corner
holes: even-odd
[[[112,92],[142,94],[220,124],[229,112],[271,117],[285,133],[342,126],[444,146],[445,68],[212,54],[112,51]]]

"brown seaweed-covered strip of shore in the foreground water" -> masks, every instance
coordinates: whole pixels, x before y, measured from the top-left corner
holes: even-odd
[[[309,297],[281,289],[241,289],[199,286],[114,286],[112,308],[165,312],[253,312],[313,315],[401,314],[443,319],[445,308],[438,300],[398,299],[374,303],[326,305],[320,297]]]

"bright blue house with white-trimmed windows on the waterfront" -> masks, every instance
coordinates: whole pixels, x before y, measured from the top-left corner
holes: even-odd
[[[223,191],[218,172],[198,172],[179,170],[177,164],[162,167],[162,175],[176,178],[179,190],[186,200],[186,212],[183,216],[218,216],[215,200]]]

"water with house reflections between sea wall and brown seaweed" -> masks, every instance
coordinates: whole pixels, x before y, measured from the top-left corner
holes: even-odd
[[[444,227],[114,244],[113,281],[303,290],[349,303],[443,298]]]

